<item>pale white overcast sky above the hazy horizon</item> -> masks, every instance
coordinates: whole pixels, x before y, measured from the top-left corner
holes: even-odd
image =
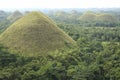
[[[0,0],[0,9],[120,8],[120,0]]]

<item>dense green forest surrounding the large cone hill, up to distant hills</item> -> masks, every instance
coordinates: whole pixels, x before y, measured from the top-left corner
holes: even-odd
[[[119,22],[117,26],[98,27],[59,19],[56,18],[58,26],[77,46],[27,57],[0,45],[0,80],[120,80]]]

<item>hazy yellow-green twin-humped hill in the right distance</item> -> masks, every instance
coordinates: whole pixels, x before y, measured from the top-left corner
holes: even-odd
[[[118,24],[118,20],[115,16],[108,13],[95,13],[87,11],[83,13],[79,18],[79,22],[82,26],[101,26],[101,27],[115,27]]]

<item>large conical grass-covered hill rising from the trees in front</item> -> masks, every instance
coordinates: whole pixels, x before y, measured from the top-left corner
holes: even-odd
[[[46,15],[31,12],[23,16],[0,36],[0,42],[21,55],[45,54],[66,48],[75,41],[59,29]]]

